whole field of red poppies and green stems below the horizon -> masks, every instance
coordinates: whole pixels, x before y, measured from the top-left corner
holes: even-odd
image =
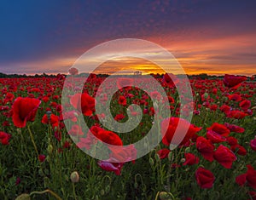
[[[75,85],[79,77],[72,76],[68,87],[79,91]],[[173,83],[168,75],[154,76],[167,99],[158,99],[158,91],[147,94],[137,87],[125,87],[113,96],[102,91],[101,99],[95,100],[105,78],[91,75],[83,92],[69,95],[64,103],[63,75],[0,79],[0,199],[256,199],[253,78],[191,78],[194,103],[187,105],[181,105],[180,98],[185,97],[175,87],[183,79]],[[115,79],[117,85],[147,83],[143,76]],[[150,96],[168,106],[154,106]],[[137,128],[129,134],[106,129],[101,122],[108,117],[96,113],[95,106],[106,106],[107,100],[119,123],[126,122],[128,110],[137,117],[131,104],[140,106],[143,117]],[[192,121],[181,112],[193,115]],[[90,134],[79,125],[79,116]],[[172,138],[178,123],[188,131],[175,144]],[[162,140],[143,157],[137,158],[137,146],[115,151],[102,148],[95,140],[129,145],[143,139],[153,124]],[[172,145],[178,146],[171,151]],[[98,160],[84,153],[90,150],[112,159]],[[129,159],[113,161],[119,157]]]

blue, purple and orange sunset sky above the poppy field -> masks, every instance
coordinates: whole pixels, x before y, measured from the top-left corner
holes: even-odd
[[[100,43],[139,38],[168,49],[187,74],[251,76],[256,74],[255,25],[253,0],[1,1],[0,72],[67,73]],[[104,73],[126,66],[157,71],[147,60],[104,65]]]

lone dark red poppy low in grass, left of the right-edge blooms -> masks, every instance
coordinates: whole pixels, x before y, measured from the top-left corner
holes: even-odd
[[[206,189],[213,186],[215,177],[210,170],[200,167],[195,171],[195,179],[201,188]]]

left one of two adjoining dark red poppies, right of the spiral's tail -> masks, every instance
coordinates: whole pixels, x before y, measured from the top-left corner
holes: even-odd
[[[210,140],[207,140],[202,136],[198,137],[196,139],[196,148],[207,161],[212,162],[214,160],[213,152],[215,147]]]

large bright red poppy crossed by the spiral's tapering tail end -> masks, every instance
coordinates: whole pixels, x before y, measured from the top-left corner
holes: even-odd
[[[195,133],[199,132],[201,130],[201,127],[196,127],[194,124],[189,123],[187,120],[179,117],[171,117],[170,118],[170,123],[169,118],[166,118],[162,123],[161,127],[167,127],[167,131],[162,129],[162,136],[163,136],[163,144],[166,146],[170,146],[172,137],[174,133],[176,132],[177,134],[183,133],[183,127],[189,127],[187,133],[185,134],[185,137],[181,141],[179,145],[184,145],[186,144]],[[181,123],[177,129],[177,124]],[[172,141],[173,144],[177,144],[176,141]]]

